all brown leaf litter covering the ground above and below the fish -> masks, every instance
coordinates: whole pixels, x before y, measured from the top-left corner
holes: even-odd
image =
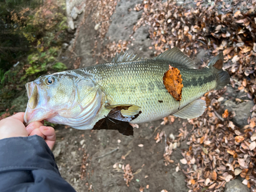
[[[113,5],[116,3],[110,2]],[[107,3],[107,1],[103,2],[104,5]],[[247,185],[251,191],[255,190],[255,4],[255,0],[248,1],[246,4],[242,1],[232,3],[195,1],[179,6],[171,1],[165,3],[144,1],[134,7],[134,10],[142,11],[142,17],[134,25],[134,33],[141,26],[150,26],[149,33],[150,38],[153,39],[153,45],[148,49],[155,49],[155,55],[174,46],[191,58],[199,54],[198,51],[202,48],[207,50],[209,55],[217,55],[218,52],[223,51],[224,69],[231,76],[231,87],[246,95],[244,99],[233,99],[238,104],[245,102],[246,99],[254,101],[250,111],[251,116],[247,119],[248,124],[244,127],[238,127],[231,121],[236,116],[233,111],[223,109],[222,101],[228,98],[225,93],[226,88],[205,94],[202,99],[206,101],[207,109],[197,119],[186,122],[173,116],[164,118],[161,124],[174,125],[176,121],[183,122],[179,133],[166,135],[165,131],[158,129],[159,126],[152,127],[156,143],[164,142],[165,144],[163,160],[166,166],[174,164],[172,155],[179,150],[178,147],[182,142],[185,141],[189,146],[188,150],[181,151],[183,158],[175,165],[176,172],[183,172],[186,175],[185,181],[189,191],[223,191],[226,182],[237,177],[242,178],[243,184]],[[246,11],[237,9],[239,6],[244,7],[243,10]],[[99,7],[97,9],[101,10]],[[106,12],[106,9],[102,9],[101,12],[106,14],[106,20],[108,20],[114,10],[112,7],[109,12]],[[97,21],[96,18],[95,23],[99,22],[100,20]],[[103,31],[100,31],[99,38],[108,31],[108,25],[105,26]],[[132,35],[131,39],[134,40]],[[101,57],[107,59],[113,57],[116,52],[128,50],[127,47],[133,44],[132,40],[120,39],[107,44]],[[95,47],[97,44],[95,40]],[[202,62],[199,68],[207,65],[206,61]],[[189,126],[193,128],[188,129]],[[143,147],[143,144],[138,146]],[[127,157],[129,157],[129,151],[121,159],[125,160]],[[84,155],[84,159],[81,173],[84,172],[87,175],[81,174],[81,177],[90,177],[90,174],[84,171],[88,167],[87,164],[90,164],[88,155]],[[140,166],[142,168],[143,164]],[[119,162],[113,166],[114,169],[117,167],[123,174],[126,185],[129,185],[135,175],[132,166],[129,163],[124,165]],[[137,166],[136,169],[135,173],[140,168]],[[145,179],[147,177],[145,176]],[[89,183],[88,187],[93,190]],[[147,185],[141,186],[140,191],[147,188]],[[167,191],[161,188],[160,190]]]

